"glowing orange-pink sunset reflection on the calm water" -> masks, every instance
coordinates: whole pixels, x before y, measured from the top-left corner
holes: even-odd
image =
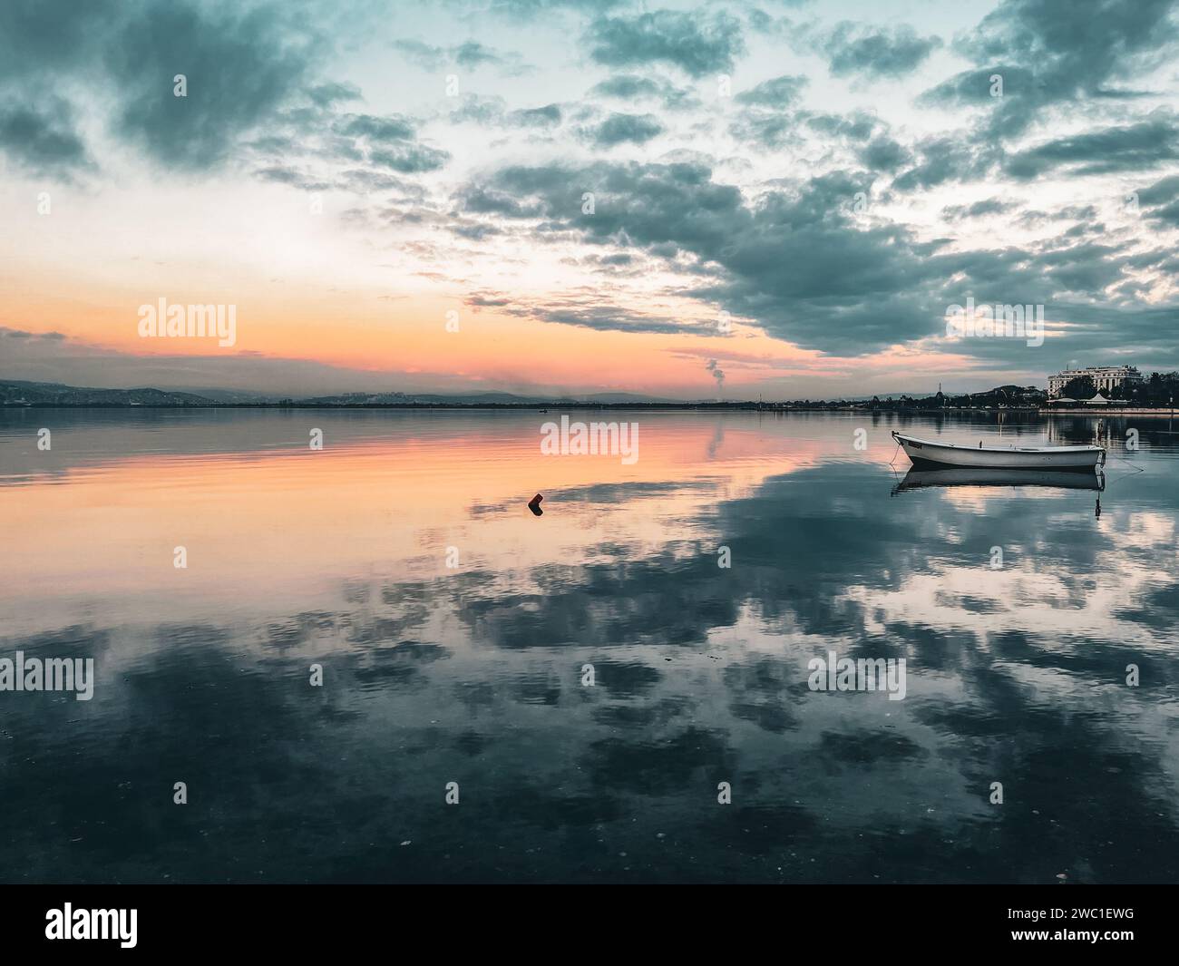
[[[243,612],[325,606],[348,579],[525,580],[538,565],[591,559],[604,543],[650,552],[710,540],[713,552],[706,504],[831,449],[752,420],[656,416],[639,419],[633,465],[542,455],[541,421],[559,418],[347,442],[325,421],[322,451],[129,455],[52,482],[34,477],[0,504],[6,596],[29,626],[64,602],[77,619],[99,605],[127,620],[179,619],[211,602]],[[536,492],[541,518],[526,506]],[[178,546],[185,569],[173,566]]]

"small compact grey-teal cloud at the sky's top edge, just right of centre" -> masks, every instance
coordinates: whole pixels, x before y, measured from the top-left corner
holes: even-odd
[[[586,29],[585,41],[590,55],[608,67],[672,64],[694,78],[732,71],[745,51],[740,22],[724,12],[600,17]]]

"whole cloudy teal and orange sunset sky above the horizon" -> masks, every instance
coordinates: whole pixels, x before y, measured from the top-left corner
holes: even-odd
[[[1179,0],[6,0],[0,379],[1179,369],[1177,94]],[[160,298],[233,307],[233,343],[144,336]],[[1042,307],[1043,339],[951,329],[968,298]]]

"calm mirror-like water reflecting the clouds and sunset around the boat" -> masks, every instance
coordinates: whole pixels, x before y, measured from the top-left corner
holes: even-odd
[[[0,414],[0,657],[97,673],[0,692],[0,878],[1179,879],[1179,427],[1102,427],[1099,517],[888,435],[1095,420],[599,415],[627,466],[558,416]],[[811,691],[832,650],[907,697]]]

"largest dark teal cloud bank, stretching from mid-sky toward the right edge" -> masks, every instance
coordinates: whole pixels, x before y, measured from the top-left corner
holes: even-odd
[[[928,165],[923,173],[934,178]],[[832,355],[943,334],[946,308],[968,295],[1052,305],[1053,318],[1069,321],[1089,300],[1096,317],[1102,304],[1120,315],[1122,334],[1157,324],[1109,294],[1127,280],[1128,267],[1118,244],[1091,237],[1093,228],[1025,248],[951,251],[946,239],[920,241],[902,224],[857,222],[852,202],[871,184],[868,172],[834,171],[747,202],[702,164],[597,163],[507,167],[469,186],[468,197],[496,199],[485,209],[534,222],[536,241],[572,231],[588,244],[623,245],[666,259],[673,270],[694,270],[700,281],[681,294]],[[585,191],[594,192],[592,215],[581,211]],[[626,328],[610,309],[586,315],[560,307],[545,317]],[[1006,344],[1013,340],[979,342],[981,355],[1026,351],[1023,343]]]

